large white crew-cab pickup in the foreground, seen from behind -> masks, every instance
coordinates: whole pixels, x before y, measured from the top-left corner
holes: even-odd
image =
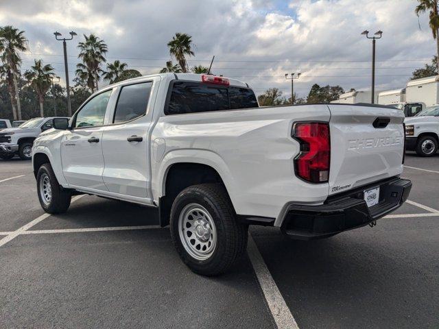
[[[249,224],[315,239],[401,206],[403,120],[385,106],[259,108],[226,77],[139,77],[36,139],[38,198],[49,213],[78,193],[154,207],[182,260],[212,276],[244,253]]]

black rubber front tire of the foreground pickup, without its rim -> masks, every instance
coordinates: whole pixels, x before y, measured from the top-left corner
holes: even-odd
[[[43,192],[40,188],[41,180],[46,177],[49,178],[51,187],[51,198],[49,201],[47,201],[47,199],[45,199],[45,197],[42,195]],[[49,212],[49,214],[59,214],[61,212],[66,212],[67,209],[69,209],[71,192],[65,190],[62,188],[62,186],[60,186],[60,184],[58,184],[54,170],[49,163],[43,164],[40,169],[38,169],[38,173],[36,175],[36,191],[38,193],[40,205],[45,212]]]

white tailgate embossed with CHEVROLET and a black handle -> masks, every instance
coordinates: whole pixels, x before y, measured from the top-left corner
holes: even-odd
[[[402,173],[404,114],[401,110],[337,104],[329,105],[329,110],[329,195]]]

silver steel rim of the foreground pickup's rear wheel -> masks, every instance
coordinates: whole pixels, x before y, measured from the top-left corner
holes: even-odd
[[[200,204],[188,204],[178,217],[180,241],[196,260],[212,256],[217,245],[217,230],[209,212]]]

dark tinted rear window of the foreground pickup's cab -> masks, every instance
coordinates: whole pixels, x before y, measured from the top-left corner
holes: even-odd
[[[256,97],[248,88],[215,86],[198,82],[174,82],[165,114],[257,107]]]

